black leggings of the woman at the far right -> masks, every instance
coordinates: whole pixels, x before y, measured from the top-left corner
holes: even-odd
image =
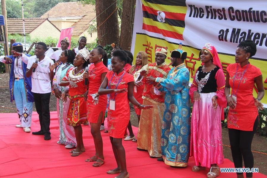
[[[243,167],[243,159],[245,168],[253,168],[254,158],[251,152],[251,143],[253,136],[259,124],[259,117],[256,118],[253,131],[241,131],[237,129],[228,129],[229,140],[231,145],[232,157],[235,168]],[[243,158],[243,159],[242,159]],[[236,173],[243,174],[243,173]],[[252,173],[246,173],[247,177],[252,177]]]

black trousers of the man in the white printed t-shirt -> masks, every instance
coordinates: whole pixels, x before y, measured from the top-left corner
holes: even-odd
[[[36,111],[39,115],[41,131],[50,135],[50,102],[51,93],[33,93]]]

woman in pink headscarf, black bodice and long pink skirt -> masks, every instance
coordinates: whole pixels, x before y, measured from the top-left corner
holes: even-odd
[[[199,53],[201,66],[196,71],[189,95],[193,103],[190,156],[196,166],[192,171],[210,168],[208,178],[219,175],[223,163],[221,119],[226,107],[225,77],[217,50],[210,43]]]

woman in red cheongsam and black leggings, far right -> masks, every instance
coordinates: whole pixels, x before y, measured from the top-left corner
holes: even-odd
[[[249,58],[256,54],[256,45],[251,40],[239,43],[236,48],[235,61],[227,67],[225,96],[230,106],[227,127],[236,168],[242,168],[242,157],[245,168],[253,168],[251,143],[258,127],[258,110],[263,109],[260,100],[264,96],[263,80],[260,69],[249,63]],[[258,89],[257,98],[253,97],[253,88]],[[230,95],[231,88],[231,95]],[[236,173],[244,177],[243,173]],[[252,177],[251,172],[246,173]]]

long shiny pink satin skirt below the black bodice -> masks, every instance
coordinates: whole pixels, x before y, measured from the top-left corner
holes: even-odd
[[[212,108],[216,93],[200,93],[195,101],[191,118],[190,156],[196,166],[210,168],[211,164],[223,163],[221,107]]]

